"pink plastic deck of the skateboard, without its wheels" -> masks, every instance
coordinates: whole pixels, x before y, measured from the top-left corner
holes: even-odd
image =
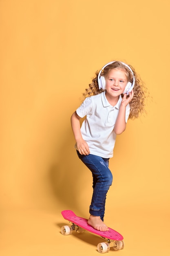
[[[91,227],[87,224],[87,219],[76,216],[73,211],[70,211],[70,210],[62,211],[62,216],[64,217],[65,220],[68,220],[68,221],[74,223],[75,225],[82,227],[83,229],[86,229],[86,230],[88,230],[94,234],[97,234],[99,236],[102,236],[104,238],[108,238],[111,240],[123,240],[124,239],[121,234],[119,234],[117,231],[110,229],[110,228],[109,228],[109,231],[99,231],[99,230],[93,229],[93,227]]]

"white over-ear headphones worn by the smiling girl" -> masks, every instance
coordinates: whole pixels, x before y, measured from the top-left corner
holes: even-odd
[[[106,80],[105,80],[105,77],[104,76],[100,76],[100,74],[102,73],[102,71],[104,70],[104,68],[106,67],[106,66],[108,66],[108,65],[110,65],[110,64],[112,64],[112,63],[114,63],[115,61],[112,61],[112,62],[109,62],[109,63],[107,63],[106,65],[104,65],[104,67],[102,67],[102,69],[100,70],[100,72],[99,72],[99,74],[98,74],[98,85],[99,85],[99,90],[100,89],[103,89],[103,90],[105,90],[106,88]],[[123,92],[123,94],[129,94],[129,92],[131,92],[132,91],[132,89],[133,89],[133,87],[134,87],[134,85],[135,85],[135,77],[134,77],[134,74],[133,74],[133,72],[132,72],[132,70],[131,70],[131,68],[126,64],[126,63],[124,63],[124,62],[121,62],[123,65],[125,65],[126,67],[128,67],[128,69],[131,71],[131,73],[132,73],[132,75],[133,75],[133,82],[132,83],[130,83],[130,82],[128,82],[127,83],[127,85],[126,85],[126,87],[125,87],[125,90],[124,90],[124,92]]]

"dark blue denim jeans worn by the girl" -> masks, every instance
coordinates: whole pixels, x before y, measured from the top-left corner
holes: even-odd
[[[93,175],[93,196],[90,205],[90,214],[100,216],[104,220],[106,194],[112,184],[113,176],[108,168],[109,158],[99,157],[97,155],[80,155],[79,159],[91,170]]]

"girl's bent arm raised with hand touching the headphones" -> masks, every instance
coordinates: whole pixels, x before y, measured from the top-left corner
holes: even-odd
[[[122,132],[124,132],[124,130],[126,130],[126,106],[128,105],[128,103],[131,101],[131,99],[133,98],[133,90],[132,92],[129,92],[129,97],[126,98],[126,94],[124,94],[124,97],[121,101],[121,105],[120,105],[120,109],[119,109],[119,114],[117,116],[116,119],[116,123],[115,123],[115,127],[114,127],[114,132],[119,135]]]

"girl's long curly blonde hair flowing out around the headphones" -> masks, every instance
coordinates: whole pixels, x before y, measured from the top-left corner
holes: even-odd
[[[135,72],[135,69],[131,66],[128,65],[135,77],[135,85],[133,88],[134,91],[134,97],[130,101],[130,115],[129,119],[135,119],[138,118],[140,114],[146,112],[145,111],[145,99],[146,99],[146,94],[147,94],[147,88],[144,85],[144,82],[141,80],[140,76]],[[133,75],[132,72],[126,67],[121,61],[115,61],[109,65],[107,65],[104,70],[102,70],[100,76],[104,76],[106,78],[109,70],[115,69],[115,70],[123,70],[125,72],[127,81],[130,81],[131,83],[133,82]],[[93,95],[97,95],[101,92],[104,92],[103,89],[99,90],[99,85],[98,85],[98,74],[99,71],[95,73],[95,77],[92,80],[92,83],[89,84],[89,87],[86,89],[86,92],[83,93],[83,96],[86,97],[91,97]],[[123,94],[121,95],[123,97]]]

